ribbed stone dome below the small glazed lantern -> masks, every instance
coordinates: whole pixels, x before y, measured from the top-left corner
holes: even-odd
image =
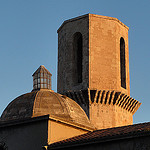
[[[14,99],[4,110],[1,120],[16,120],[43,115],[91,127],[84,110],[72,99],[48,89],[36,90]]]

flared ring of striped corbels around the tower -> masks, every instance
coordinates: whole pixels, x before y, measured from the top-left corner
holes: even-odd
[[[102,105],[115,105],[132,114],[134,114],[141,105],[139,101],[119,91],[88,89],[68,91],[64,94],[81,105],[92,105],[96,103]]]

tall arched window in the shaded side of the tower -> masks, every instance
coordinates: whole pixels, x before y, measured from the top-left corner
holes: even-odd
[[[73,64],[74,64],[74,80],[76,83],[82,82],[82,58],[83,58],[83,48],[82,48],[82,34],[76,32],[73,37]]]

